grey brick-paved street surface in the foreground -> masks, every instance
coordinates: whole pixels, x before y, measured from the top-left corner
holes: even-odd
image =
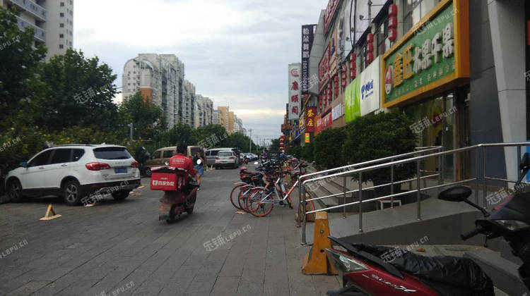
[[[194,213],[173,224],[158,221],[163,192],[149,190],[146,178],[122,202],[0,204],[0,295],[324,295],[339,288],[336,276],[301,273],[310,248],[300,245],[293,209],[275,207],[264,218],[236,213],[229,195],[238,176],[237,169],[206,171]],[[62,217],[40,221],[48,204]]]

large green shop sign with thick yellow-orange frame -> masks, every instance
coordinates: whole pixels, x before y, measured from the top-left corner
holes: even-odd
[[[466,13],[457,7],[461,1],[437,4],[384,54],[384,107],[469,77],[469,35],[461,30],[467,27],[462,25]]]

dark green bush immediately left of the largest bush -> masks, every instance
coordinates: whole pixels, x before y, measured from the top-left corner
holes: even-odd
[[[346,139],[346,130],[331,128],[323,130],[314,137],[314,160],[321,168],[336,168],[344,165],[342,145]]]

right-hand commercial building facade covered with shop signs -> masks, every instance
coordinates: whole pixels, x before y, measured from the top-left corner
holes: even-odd
[[[314,134],[399,109],[413,118],[418,147],[526,142],[529,20],[523,0],[330,0],[314,30],[317,80],[302,109],[317,110]],[[488,159],[498,161],[487,175],[517,175],[515,149],[492,149]],[[443,161],[448,179],[472,176],[476,165],[468,154]]]

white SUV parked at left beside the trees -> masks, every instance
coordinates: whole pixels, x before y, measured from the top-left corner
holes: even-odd
[[[54,146],[21,163],[20,168],[6,176],[12,202],[57,195],[70,206],[99,193],[125,199],[139,185],[138,162],[125,147],[109,144]]]

